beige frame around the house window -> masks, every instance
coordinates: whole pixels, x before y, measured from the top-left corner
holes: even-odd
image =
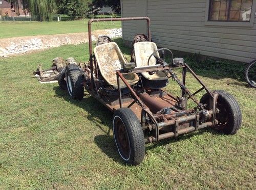
[[[209,20],[209,8],[210,8],[210,0],[206,0],[205,20],[204,20],[205,25],[253,27],[254,19],[256,17],[256,14],[255,14],[256,0],[252,0],[250,21]]]

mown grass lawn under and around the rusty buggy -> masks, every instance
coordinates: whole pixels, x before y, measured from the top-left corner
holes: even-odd
[[[235,135],[202,129],[148,144],[142,164],[126,166],[110,129],[112,113],[89,95],[72,100],[57,84],[39,84],[32,75],[54,57],[87,61],[86,52],[87,44],[66,45],[0,59],[1,189],[255,188],[255,89],[222,70],[196,68],[210,89],[236,97],[242,128]],[[187,84],[192,92],[199,87],[190,74]],[[166,90],[179,94],[173,82]]]

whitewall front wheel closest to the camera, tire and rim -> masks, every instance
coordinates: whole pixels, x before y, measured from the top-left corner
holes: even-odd
[[[114,112],[112,127],[121,158],[130,165],[140,164],[145,156],[145,141],[137,116],[130,108],[119,108]]]

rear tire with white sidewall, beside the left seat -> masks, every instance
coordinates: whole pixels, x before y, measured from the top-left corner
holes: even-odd
[[[66,66],[66,83],[71,98],[78,100],[83,98],[83,80],[84,76],[77,65],[70,64]]]

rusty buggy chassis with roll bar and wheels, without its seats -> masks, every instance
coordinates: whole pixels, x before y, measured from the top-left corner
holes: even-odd
[[[224,133],[233,134],[241,125],[241,112],[239,105],[234,98],[224,91],[210,91],[193,70],[184,62],[180,64],[166,64],[160,60],[160,64],[143,67],[131,67],[130,69],[117,69],[117,93],[102,95],[98,81],[99,69],[92,47],[92,22],[98,21],[126,21],[146,20],[147,35],[151,41],[150,18],[114,18],[114,19],[91,19],[88,22],[90,65],[83,71],[77,70],[78,75],[72,86],[71,72],[74,66],[66,68],[66,81],[69,94],[74,99],[81,99],[83,87],[88,93],[114,112],[113,133],[122,159],[128,164],[139,164],[145,154],[145,142],[158,142],[159,140],[177,137],[180,134],[196,131],[205,127],[213,127]],[[153,53],[152,53],[153,55]],[[154,56],[155,57],[155,56]],[[157,59],[157,58],[156,58]],[[162,61],[162,62],[161,62]],[[129,63],[130,64],[130,63]],[[179,80],[173,70],[182,68],[182,79]],[[70,71],[69,71],[70,70]],[[140,76],[140,85],[130,85],[123,74],[143,72],[164,72],[168,78],[173,78],[181,88],[181,97],[174,97],[163,89],[144,88]],[[189,71],[201,84],[202,88],[191,93],[185,86],[186,72]],[[74,78],[73,77],[73,78]],[[125,85],[129,93],[123,93],[120,83]],[[78,85],[76,85],[78,83]],[[82,89],[79,84],[82,85]],[[73,89],[72,89],[73,88]],[[205,90],[206,94],[200,101],[195,97],[200,91]],[[187,110],[187,99],[196,103],[195,108]]]

